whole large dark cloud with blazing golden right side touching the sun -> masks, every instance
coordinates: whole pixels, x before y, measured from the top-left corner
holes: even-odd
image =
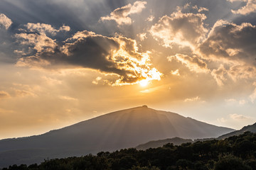
[[[69,39],[62,50],[68,62],[118,74],[118,84],[135,83],[139,79],[155,79],[160,75],[149,67],[149,54],[138,52],[135,40],[122,36],[108,38],[92,32],[79,32]],[[154,75],[150,75],[154,72]],[[159,79],[159,78],[157,78]],[[117,83],[117,82],[115,82]]]

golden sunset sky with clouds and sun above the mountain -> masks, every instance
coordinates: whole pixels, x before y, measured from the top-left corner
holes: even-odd
[[[147,105],[256,122],[255,0],[1,0],[0,139]]]

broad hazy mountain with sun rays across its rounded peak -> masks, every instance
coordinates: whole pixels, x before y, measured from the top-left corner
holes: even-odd
[[[151,140],[218,137],[228,132],[233,129],[142,106],[101,115],[43,135],[0,140],[0,167],[114,151]]]

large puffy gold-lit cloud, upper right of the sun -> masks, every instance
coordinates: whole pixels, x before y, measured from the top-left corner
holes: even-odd
[[[204,39],[208,30],[203,26],[206,16],[203,13],[182,13],[181,9],[163,16],[149,32],[164,47],[174,44],[194,49]]]

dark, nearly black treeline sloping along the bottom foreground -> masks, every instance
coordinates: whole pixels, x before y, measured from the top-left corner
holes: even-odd
[[[3,170],[252,170],[256,169],[256,133],[225,140],[208,140],[185,143],[179,146],[166,144],[156,149],[121,149],[100,152],[84,157],[45,160],[29,166],[13,165]]]

